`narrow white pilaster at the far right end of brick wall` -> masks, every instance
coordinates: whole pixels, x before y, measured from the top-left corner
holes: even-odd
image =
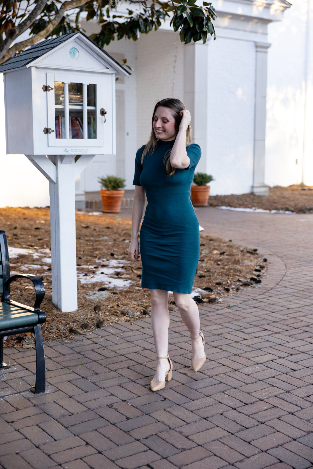
[[[254,155],[252,192],[257,196],[268,196],[265,184],[265,125],[267,88],[268,43],[255,43],[255,104],[254,104]]]

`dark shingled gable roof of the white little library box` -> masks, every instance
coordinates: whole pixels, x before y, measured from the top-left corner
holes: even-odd
[[[126,68],[122,67],[118,61],[116,61],[113,57],[111,57],[110,54],[108,54],[106,51],[102,49],[98,44],[96,44],[92,39],[88,38],[84,33],[81,31],[79,32],[72,32],[70,34],[63,34],[63,36],[59,36],[57,38],[51,38],[51,39],[45,39],[44,41],[38,42],[37,44],[31,46],[29,49],[26,51],[15,55],[12,59],[8,60],[5,62],[3,65],[0,65],[0,72],[5,72],[8,70],[13,70],[15,68],[22,68],[25,67],[26,65],[30,64],[31,62],[35,61],[45,53],[51,51],[54,49],[54,47],[57,47],[58,45],[62,44],[63,42],[67,41],[69,38],[72,38],[73,36],[76,36],[77,34],[81,34],[85,38],[87,38],[93,45],[96,45],[98,49],[107,57],[109,57],[111,60],[115,61],[115,63],[121,67],[128,75],[130,75],[130,72],[126,70]]]

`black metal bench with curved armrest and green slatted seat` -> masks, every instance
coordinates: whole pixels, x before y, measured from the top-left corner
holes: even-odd
[[[29,279],[35,287],[34,308],[10,299],[10,284],[16,279]],[[8,243],[5,231],[0,230],[0,369],[10,368],[3,362],[3,337],[32,332],[36,344],[36,385],[31,387],[34,393],[46,391],[45,352],[40,324],[46,322],[46,314],[40,310],[45,296],[43,281],[36,275],[19,274],[10,277]]]

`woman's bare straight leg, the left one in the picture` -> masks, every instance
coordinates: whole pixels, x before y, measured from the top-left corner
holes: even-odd
[[[150,289],[151,295],[151,320],[154,345],[157,356],[168,355],[168,291]],[[154,381],[164,381],[165,374],[169,370],[168,360],[158,360],[154,374]]]

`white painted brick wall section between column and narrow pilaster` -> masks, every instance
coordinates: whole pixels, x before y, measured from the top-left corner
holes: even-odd
[[[218,38],[208,47],[207,172],[211,194],[250,192],[253,170],[255,45]]]

